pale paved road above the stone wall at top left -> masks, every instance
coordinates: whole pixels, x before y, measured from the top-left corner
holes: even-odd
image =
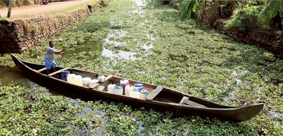
[[[81,0],[81,1],[65,1],[65,2],[52,2],[48,3],[48,5],[30,5],[20,8],[12,8],[11,16],[19,15],[19,14],[29,14],[29,13],[37,13],[37,12],[46,12],[52,11],[62,8],[67,8],[70,6],[78,5],[90,0]],[[1,17],[7,17],[8,8],[0,10]]]

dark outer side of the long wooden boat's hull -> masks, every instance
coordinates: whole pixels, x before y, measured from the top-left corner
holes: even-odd
[[[249,105],[242,105],[242,106],[226,106],[226,108],[201,108],[201,107],[194,107],[188,106],[184,104],[177,104],[177,103],[168,103],[168,102],[161,102],[156,100],[145,100],[145,99],[137,99],[133,97],[128,97],[125,95],[116,95],[112,93],[108,93],[105,91],[96,91],[92,90],[83,86],[74,85],[63,80],[57,79],[55,77],[47,76],[40,72],[37,72],[35,69],[44,68],[44,65],[41,64],[34,64],[25,62],[15,55],[11,54],[13,61],[15,62],[16,66],[26,72],[33,74],[33,76],[37,76],[37,79],[44,80],[50,84],[55,85],[58,88],[62,88],[65,90],[72,90],[73,93],[80,93],[85,94],[87,97],[93,97],[94,100],[97,98],[103,98],[104,100],[110,101],[119,101],[125,104],[130,104],[133,107],[147,107],[153,108],[160,111],[171,111],[174,113],[174,116],[188,116],[188,115],[198,115],[202,117],[210,117],[210,118],[218,118],[221,120],[229,120],[232,122],[242,122],[248,119],[251,119],[255,115],[257,115],[263,108],[264,104],[249,104]],[[29,66],[26,64],[28,63]],[[33,67],[33,68],[31,68]],[[64,67],[57,67],[57,68],[64,68]],[[68,89],[67,89],[68,88]],[[172,90],[172,89],[171,89]],[[173,90],[174,91],[174,90]],[[176,94],[181,93],[182,95],[191,96],[190,94],[185,94],[179,91],[176,91]],[[198,98],[198,97],[195,97]],[[211,102],[208,100],[204,100],[199,98],[204,102]],[[221,106],[221,104],[219,104]],[[228,108],[227,108],[228,107]]]

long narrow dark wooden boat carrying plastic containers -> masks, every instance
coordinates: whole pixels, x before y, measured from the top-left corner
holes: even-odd
[[[34,76],[39,76],[38,79],[48,81],[50,83],[57,83],[62,87],[72,88],[78,92],[85,92],[93,94],[97,97],[104,97],[105,99],[119,100],[125,103],[129,103],[139,107],[150,107],[163,111],[172,111],[176,116],[181,115],[198,115],[198,116],[208,116],[215,117],[222,120],[229,120],[232,122],[242,122],[256,116],[263,108],[262,103],[260,104],[248,104],[239,106],[229,106],[224,104],[218,104],[213,101],[205,100],[200,97],[196,97],[181,91],[176,91],[170,88],[162,87],[160,85],[153,85],[148,83],[143,83],[143,87],[150,91],[150,94],[146,99],[134,98],[125,95],[117,95],[107,92],[107,88],[98,91],[99,85],[107,86],[108,84],[119,85],[119,81],[123,78],[116,77],[113,75],[106,76],[105,82],[99,82],[90,87],[84,87],[75,85],[55,77],[56,74],[60,74],[63,70],[69,70],[70,73],[81,75],[82,77],[90,77],[91,79],[97,79],[98,73],[89,72],[84,70],[72,69],[70,67],[56,67],[56,72],[50,73],[48,75],[45,73],[45,66],[41,64],[34,64],[11,54],[12,59],[16,66],[27,72],[33,73]],[[130,80],[130,84],[135,84],[135,80]]]

